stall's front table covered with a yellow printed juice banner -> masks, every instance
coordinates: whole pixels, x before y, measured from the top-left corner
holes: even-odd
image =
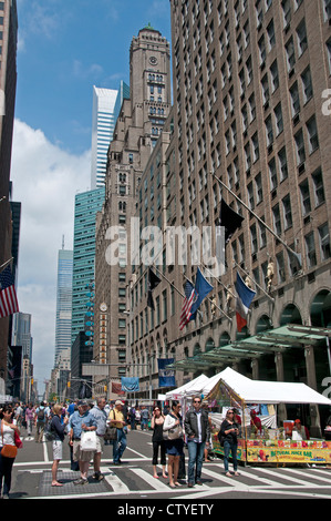
[[[224,454],[217,435],[214,452]],[[248,463],[331,463],[331,441],[325,440],[238,440],[238,461]]]

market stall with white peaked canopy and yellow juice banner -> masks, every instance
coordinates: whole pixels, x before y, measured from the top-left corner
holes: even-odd
[[[251,380],[227,368],[218,375],[217,382],[201,390],[209,402],[217,402],[223,411],[236,408],[240,415],[241,436],[238,440],[238,459],[245,462],[269,463],[331,463],[331,441],[297,439],[292,436],[293,420],[277,426],[279,403],[317,403],[331,406],[331,400],[304,384]],[[251,410],[265,408],[260,416],[261,428],[251,426]],[[213,435],[214,452],[223,454],[217,433]]]

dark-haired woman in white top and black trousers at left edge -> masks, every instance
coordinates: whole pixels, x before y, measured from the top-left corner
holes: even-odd
[[[11,406],[4,406],[0,412],[0,494],[2,491],[3,481],[3,499],[9,499],[12,467],[17,453],[15,433],[20,436],[18,426],[13,423],[13,415],[14,412]],[[4,453],[4,451],[7,453]]]

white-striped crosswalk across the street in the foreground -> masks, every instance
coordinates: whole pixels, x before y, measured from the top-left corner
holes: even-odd
[[[24,441],[34,441],[33,438]],[[25,445],[25,447],[28,443]],[[95,482],[90,467],[89,484],[75,487],[73,484],[77,472],[70,470],[70,461],[65,458],[61,461],[59,479],[63,487],[52,488],[51,483],[51,453],[48,443],[43,443],[43,458],[41,461],[21,461],[15,463],[18,472],[39,473],[39,496],[42,498],[151,498],[178,500],[198,500],[225,498],[234,493],[240,497],[246,494],[298,497],[298,498],[331,498],[331,469],[322,466],[316,467],[239,467],[239,477],[227,477],[221,459],[215,459],[204,463],[201,481],[188,488],[186,480],[178,480],[180,486],[172,489],[168,479],[162,478],[162,467],[158,467],[159,479],[155,479],[152,472],[151,456],[145,456],[133,448],[131,454],[123,459],[122,466],[114,466],[110,458],[102,459],[101,471],[104,480]],[[187,470],[187,459],[186,459]],[[268,497],[269,497],[268,496]]]

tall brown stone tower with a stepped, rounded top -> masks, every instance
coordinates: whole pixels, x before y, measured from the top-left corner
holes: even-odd
[[[108,151],[105,202],[97,218],[95,258],[94,358],[112,364],[111,378],[125,376],[127,345],[126,284],[131,216],[142,190],[141,177],[170,110],[170,50],[151,25],[130,49],[130,100],[124,99]],[[118,262],[110,264],[108,231],[120,226]],[[118,365],[118,367],[116,367]],[[117,380],[118,381],[118,380]]]

